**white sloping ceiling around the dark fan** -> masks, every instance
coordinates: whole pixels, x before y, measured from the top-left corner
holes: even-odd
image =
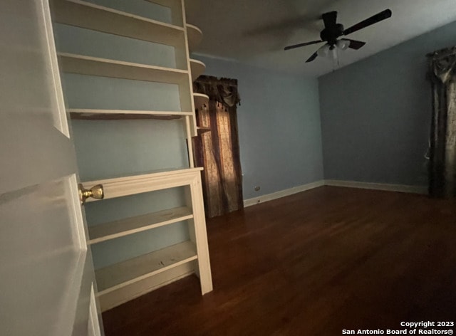
[[[345,28],[393,11],[390,19],[349,36],[367,44],[341,52],[338,67],[456,21],[456,0],[189,0],[186,6],[187,22],[204,34],[196,53],[310,76],[333,70],[331,59],[305,63],[320,45],[284,47],[320,39],[320,17],[328,11],[338,11]]]

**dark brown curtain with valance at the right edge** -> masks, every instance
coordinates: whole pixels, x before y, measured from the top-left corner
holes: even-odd
[[[432,81],[429,193],[456,196],[456,47],[427,55]]]

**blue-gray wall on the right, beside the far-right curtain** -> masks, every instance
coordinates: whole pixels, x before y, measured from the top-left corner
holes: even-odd
[[[456,22],[319,78],[325,179],[426,185],[425,54],[455,45]]]

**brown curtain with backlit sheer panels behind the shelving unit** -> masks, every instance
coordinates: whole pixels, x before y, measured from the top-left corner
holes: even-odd
[[[209,96],[195,106],[199,136],[194,138],[195,164],[202,174],[204,208],[209,218],[243,208],[242,172],[237,132],[237,80],[200,76],[194,92]]]

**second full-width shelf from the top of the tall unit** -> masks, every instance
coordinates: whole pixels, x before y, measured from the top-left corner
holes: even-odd
[[[62,70],[65,73],[172,84],[184,83],[185,79],[188,78],[187,70],[114,61],[106,58],[76,55],[72,53],[58,53],[58,56],[61,61]]]

